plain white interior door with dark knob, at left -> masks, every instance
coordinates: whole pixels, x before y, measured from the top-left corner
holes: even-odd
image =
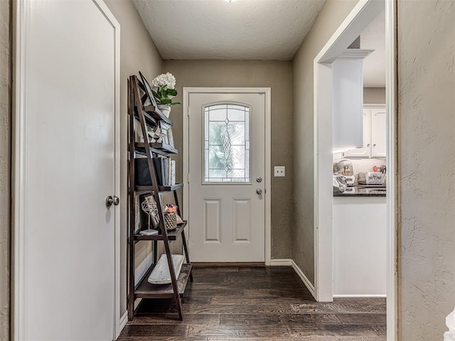
[[[14,338],[113,340],[118,31],[97,1],[18,11]]]

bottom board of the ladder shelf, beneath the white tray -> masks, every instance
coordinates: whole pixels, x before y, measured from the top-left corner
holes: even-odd
[[[180,271],[180,275],[178,276],[177,286],[178,286],[178,293],[183,294],[185,292],[186,284],[188,283],[188,279],[190,278],[191,268],[193,265],[191,264],[183,264],[182,269]],[[135,298],[173,298],[173,288],[171,284],[164,284],[164,285],[156,285],[150,284],[147,279],[150,276],[152,269],[149,270],[142,279],[141,283],[137,286],[136,290],[134,290]]]

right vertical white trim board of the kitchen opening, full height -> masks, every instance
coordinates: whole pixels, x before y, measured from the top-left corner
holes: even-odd
[[[397,18],[395,0],[385,0],[385,102],[387,107],[387,341],[397,327]]]

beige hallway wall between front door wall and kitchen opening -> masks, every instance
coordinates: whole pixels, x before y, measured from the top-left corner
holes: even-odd
[[[313,60],[357,0],[327,0],[294,57],[292,259],[314,283]]]

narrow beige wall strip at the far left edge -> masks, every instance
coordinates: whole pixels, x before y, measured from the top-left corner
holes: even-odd
[[[0,1],[0,340],[9,340],[11,59],[10,1]]]

